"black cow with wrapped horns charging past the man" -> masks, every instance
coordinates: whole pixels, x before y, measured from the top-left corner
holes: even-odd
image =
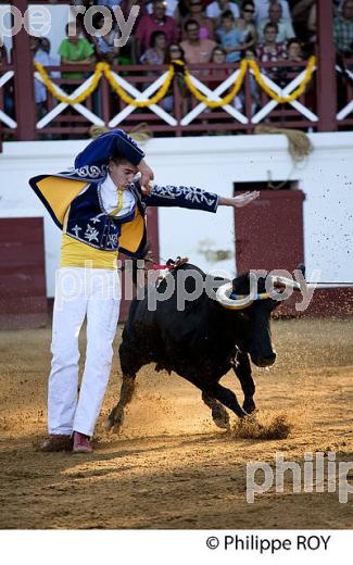
[[[199,388],[218,427],[229,427],[229,416],[224,406],[240,418],[255,410],[255,384],[249,356],[260,367],[275,363],[269,316],[278,302],[265,293],[265,278],[260,278],[256,299],[238,310],[241,296],[249,296],[250,275],[245,274],[232,281],[214,278],[213,287],[218,287],[217,293],[210,297],[210,292],[203,291],[196,300],[187,301],[180,311],[180,285],[191,298],[196,291],[194,273],[199,282],[200,279],[205,281],[206,275],[200,268],[182,264],[171,271],[157,287],[149,287],[142,300],[131,302],[119,347],[121,398],[106,420],[106,429],[119,429],[124,409],[133,398],[136,375],[143,365],[152,362],[156,363],[156,371],[174,371]],[[171,288],[169,277],[174,277],[175,291],[166,300],[157,300],[154,311],[149,310],[151,298],[165,298]],[[220,378],[231,368],[244,394],[242,407],[236,394],[219,385]]]

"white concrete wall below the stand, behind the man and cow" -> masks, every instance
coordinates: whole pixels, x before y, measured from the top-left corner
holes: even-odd
[[[157,184],[198,186],[231,196],[235,181],[291,179],[306,196],[304,247],[308,276],[322,271],[323,281],[353,280],[353,133],[313,134],[314,152],[294,166],[285,136],[217,136],[153,139],[144,150]],[[60,230],[28,187],[28,178],[63,171],[87,143],[83,141],[8,142],[0,154],[0,217],[45,216],[48,296],[53,296]],[[231,209],[217,214],[160,209],[163,259],[177,255],[205,271],[235,273],[235,226]],[[11,235],[9,235],[11,237]],[[205,241],[206,240],[206,241]],[[216,263],[202,246],[230,251]],[[201,249],[201,252],[200,252]]]

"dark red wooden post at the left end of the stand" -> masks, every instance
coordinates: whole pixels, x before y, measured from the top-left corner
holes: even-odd
[[[27,0],[13,0],[11,4],[24,16],[28,9]],[[36,139],[36,103],[34,92],[34,66],[29,49],[29,36],[24,27],[13,37],[15,111],[17,139]]]

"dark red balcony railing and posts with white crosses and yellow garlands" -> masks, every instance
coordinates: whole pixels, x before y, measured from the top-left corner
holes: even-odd
[[[14,0],[12,3],[22,12],[26,10],[26,0]],[[161,136],[217,131],[251,134],[254,127],[263,122],[275,123],[277,127],[303,128],[311,131],[348,129],[353,124],[352,61],[344,60],[344,67],[337,64],[332,7],[325,0],[318,0],[317,8],[317,63],[307,89],[298,99],[292,99],[291,95],[306,76],[307,61],[261,63],[260,73],[256,73],[253,65],[248,64],[239,91],[241,108],[235,106],[231,100],[225,105],[212,106],[234,89],[242,73],[242,62],[187,65],[191,87],[197,89],[201,98],[196,98],[189,84],[186,103],[179,81],[174,78],[169,88],[165,89],[165,95],[168,93],[169,98],[173,96],[172,110],[164,108],[163,98],[159,100],[157,97],[157,101],[152,104],[148,101],[151,97],[153,100],[161,88],[163,90],[169,73],[167,65],[112,65],[108,72],[104,67],[103,72],[99,65],[77,64],[70,67],[46,67],[46,74],[50,74],[51,71],[78,71],[85,75],[83,79],[49,76],[53,86],[48,90],[46,112],[37,120],[33,93],[34,76],[37,80],[43,81],[45,75],[38,67],[34,68],[29,38],[26,32],[22,30],[13,38],[13,64],[1,64],[2,134],[7,139],[17,140],[85,137],[92,124],[108,127],[123,125],[126,130],[130,130],[142,121],[154,135]],[[214,71],[217,71],[218,83],[215,88]],[[224,76],[219,75],[222,71]],[[180,73],[179,70],[176,74]],[[261,85],[256,86],[257,100],[254,104],[253,84],[256,75]],[[328,87],[336,84],[337,77],[344,87],[344,96],[338,97],[336,89]],[[70,103],[66,93],[67,87],[72,91],[70,99],[76,99],[73,104]],[[9,89],[12,89],[14,95],[12,108],[9,103]],[[26,97],[23,92],[26,92]],[[206,101],[202,99],[202,95],[206,97]],[[285,99],[286,103],[279,102],[277,97]],[[68,105],[71,111],[65,113]]]

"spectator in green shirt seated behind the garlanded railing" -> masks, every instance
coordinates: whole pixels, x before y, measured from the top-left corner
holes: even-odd
[[[81,30],[75,24],[66,25],[67,39],[60,43],[59,54],[62,65],[90,64],[94,61],[94,48],[81,37]],[[84,78],[85,73],[62,73],[63,78]]]

